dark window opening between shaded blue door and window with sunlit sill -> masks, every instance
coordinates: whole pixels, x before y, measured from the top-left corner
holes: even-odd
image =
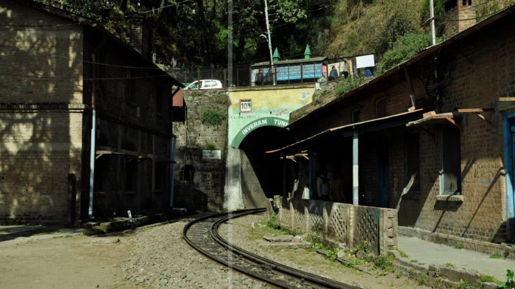
[[[406,135],[406,193],[420,193],[419,134]]]

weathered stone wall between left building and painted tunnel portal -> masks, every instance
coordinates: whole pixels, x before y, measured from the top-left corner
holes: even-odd
[[[177,136],[174,207],[217,211],[224,205],[227,93],[217,89],[187,90],[183,91],[183,97],[187,103],[187,122],[174,123]],[[226,120],[219,125],[202,123],[201,112],[207,110],[222,113]],[[221,151],[221,159],[202,158],[202,151],[209,146]],[[193,182],[182,181],[181,174],[185,165],[195,169]]]

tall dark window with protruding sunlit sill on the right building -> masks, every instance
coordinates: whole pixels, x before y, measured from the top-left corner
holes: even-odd
[[[461,193],[461,140],[459,129],[442,128],[442,194]]]

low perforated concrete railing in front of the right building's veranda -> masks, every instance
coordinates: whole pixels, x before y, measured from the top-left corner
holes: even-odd
[[[369,244],[375,254],[397,246],[397,210],[304,199],[284,199],[279,225],[297,233],[316,232],[355,248]]]

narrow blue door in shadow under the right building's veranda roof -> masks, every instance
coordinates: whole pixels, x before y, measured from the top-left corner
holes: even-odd
[[[382,139],[377,146],[377,197],[378,206],[388,208],[390,205],[390,169],[388,162],[388,140]]]

